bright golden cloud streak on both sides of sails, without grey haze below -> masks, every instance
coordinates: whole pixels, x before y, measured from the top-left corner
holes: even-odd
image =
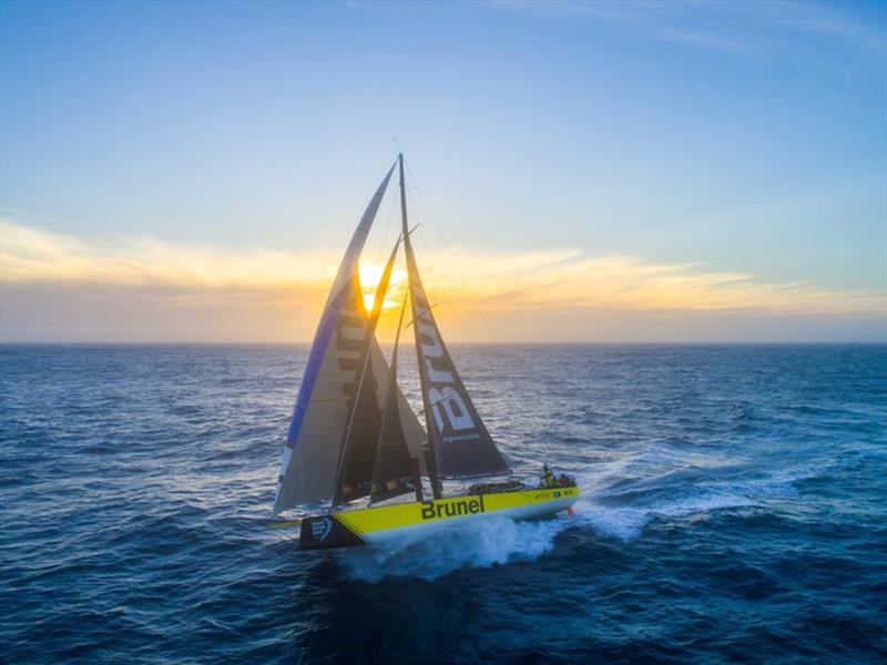
[[[259,297],[288,293],[319,300],[339,260],[335,252],[193,247],[146,236],[90,243],[9,221],[2,222],[0,238],[0,278],[7,284],[162,286],[167,296],[176,288],[248,289]],[[885,306],[884,294],[875,290],[836,290],[807,282],[774,284],[701,263],[667,265],[630,255],[591,256],[573,248],[482,253],[457,248],[431,252],[421,259],[429,290],[445,308],[470,309],[477,301],[491,313],[606,307],[823,314],[880,311]],[[377,266],[365,268],[366,286],[373,286]],[[401,289],[402,278],[400,272],[395,280]]]

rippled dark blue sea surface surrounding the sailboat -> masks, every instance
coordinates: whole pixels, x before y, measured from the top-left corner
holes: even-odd
[[[887,659],[887,347],[452,354],[572,519],[299,553],[305,347],[0,347],[0,662]]]

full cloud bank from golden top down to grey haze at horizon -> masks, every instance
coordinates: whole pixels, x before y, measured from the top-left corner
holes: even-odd
[[[580,340],[589,337],[582,332],[588,325],[638,338],[651,320],[679,320],[689,330],[694,320],[718,317],[740,317],[746,330],[748,321],[759,326],[767,317],[870,323],[880,321],[887,308],[876,289],[776,284],[702,263],[592,256],[578,248],[456,248],[419,258],[441,319],[460,324],[457,339],[490,327],[500,339],[518,340],[524,331],[527,339]],[[339,259],[333,250],[180,246],[146,236],[86,242],[2,221],[2,332],[19,340],[63,339],[65,330],[78,339],[308,340]],[[378,272],[367,268],[367,276]],[[405,288],[398,275],[392,301]],[[547,330],[551,317],[563,323]],[[677,335],[681,326],[672,328]]]

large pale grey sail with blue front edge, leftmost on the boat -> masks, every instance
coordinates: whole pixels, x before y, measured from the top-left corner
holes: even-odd
[[[367,339],[357,264],[392,172],[394,166],[360,218],[320,316],[293,409],[274,514],[333,498],[338,444],[345,432],[360,349]],[[388,366],[375,339],[370,340],[369,352],[373,381],[386,385]],[[406,405],[399,390],[397,399],[399,405]],[[421,424],[409,408],[401,409],[401,420],[410,446],[418,449],[425,436]]]

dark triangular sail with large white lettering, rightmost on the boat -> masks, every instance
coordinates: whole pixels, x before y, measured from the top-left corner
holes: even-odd
[[[422,288],[407,229],[404,157],[400,156],[400,201],[407,255],[416,357],[426,426],[440,477],[510,473],[456,371]]]

